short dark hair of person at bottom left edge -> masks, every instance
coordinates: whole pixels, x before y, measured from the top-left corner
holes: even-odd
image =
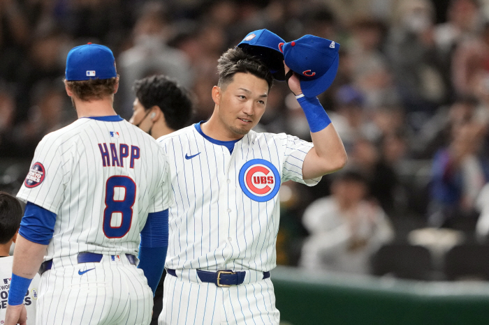
[[[0,244],[8,243],[20,227],[22,206],[6,192],[0,192]]]

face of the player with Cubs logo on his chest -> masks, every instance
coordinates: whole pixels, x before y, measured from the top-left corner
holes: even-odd
[[[219,120],[235,135],[246,135],[265,112],[268,83],[249,73],[236,73],[221,89]]]

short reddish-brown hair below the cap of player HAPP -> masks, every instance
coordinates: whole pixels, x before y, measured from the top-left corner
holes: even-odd
[[[110,96],[115,91],[115,85],[119,81],[119,77],[110,79],[91,79],[80,81],[65,80],[68,89],[73,91],[75,95],[83,101],[99,100],[106,96]]]

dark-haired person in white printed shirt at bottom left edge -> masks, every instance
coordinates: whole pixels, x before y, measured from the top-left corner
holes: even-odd
[[[15,243],[22,218],[22,206],[12,195],[0,192],[0,324],[5,319],[8,287],[12,278],[13,256],[10,245]],[[38,299],[39,275],[36,274],[24,296],[27,310],[27,325],[36,324],[36,301]]]

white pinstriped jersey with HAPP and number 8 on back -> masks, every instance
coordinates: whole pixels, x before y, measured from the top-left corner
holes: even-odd
[[[105,118],[112,121],[78,119],[36,148],[17,197],[57,214],[45,259],[137,255],[147,213],[172,202],[168,161],[158,144],[119,116]]]

